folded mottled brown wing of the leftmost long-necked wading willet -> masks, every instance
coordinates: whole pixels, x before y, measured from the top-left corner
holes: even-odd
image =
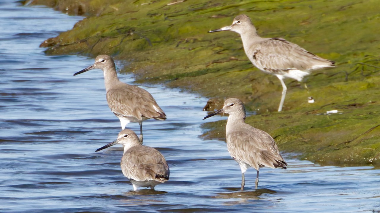
[[[119,116],[142,116],[165,120],[166,115],[153,96],[145,89],[134,85],[122,85],[107,92],[107,102],[111,111]]]

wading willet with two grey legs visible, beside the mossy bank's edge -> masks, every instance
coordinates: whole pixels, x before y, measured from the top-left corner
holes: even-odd
[[[268,166],[272,169],[286,169],[287,163],[280,155],[274,139],[263,130],[256,129],[245,123],[245,107],[241,100],[227,99],[223,108],[207,117],[227,113],[226,137],[227,148],[231,157],[240,165],[242,172],[241,191],[244,189],[244,172],[253,167],[257,170],[255,187],[259,182],[259,169]]]

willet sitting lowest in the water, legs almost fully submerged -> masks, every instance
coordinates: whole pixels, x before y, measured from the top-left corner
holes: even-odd
[[[120,166],[124,176],[131,181],[133,190],[138,190],[139,186],[154,189],[157,184],[169,180],[169,166],[165,157],[157,149],[142,145],[132,130],[122,130],[115,141],[95,152],[115,144],[124,147]]]

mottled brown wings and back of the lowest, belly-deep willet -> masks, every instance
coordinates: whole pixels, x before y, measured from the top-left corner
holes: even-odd
[[[125,177],[137,181],[169,180],[169,166],[165,157],[149,146],[130,148],[122,157],[121,169]]]

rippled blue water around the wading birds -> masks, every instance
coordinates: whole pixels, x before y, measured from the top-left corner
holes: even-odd
[[[379,170],[319,166],[284,155],[288,169],[241,172],[222,141],[198,136],[206,99],[140,85],[167,121],[144,122],[144,144],[168,160],[170,180],[156,191],[131,191],[120,171],[103,74],[79,56],[46,56],[38,45],[82,17],[0,1],[1,212],[380,212]],[[120,80],[132,83],[130,75]],[[211,118],[225,119],[221,117]],[[139,130],[137,123],[127,128]]]

